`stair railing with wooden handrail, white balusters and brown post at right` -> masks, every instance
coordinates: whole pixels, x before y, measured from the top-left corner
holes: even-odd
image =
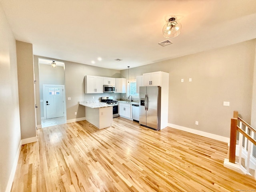
[[[239,132],[239,137],[237,137],[237,131]],[[246,174],[252,175],[249,173],[250,170],[250,160],[253,157],[253,148],[256,146],[256,140],[254,139],[254,135],[256,134],[256,130],[246,123],[242,118],[238,116],[238,112],[234,111],[234,116],[231,118],[230,124],[230,147],[229,147],[229,162],[236,162],[236,143],[238,138],[238,146],[239,146],[239,155],[238,156],[238,164],[242,165],[242,151],[247,152],[247,158],[245,158],[244,169],[246,169]],[[254,178],[256,179],[256,170],[254,168]]]

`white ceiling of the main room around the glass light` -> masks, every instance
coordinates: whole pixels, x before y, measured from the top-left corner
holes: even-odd
[[[117,70],[256,38],[256,0],[0,2],[16,40],[32,43],[35,55]],[[162,47],[171,16],[182,31]]]

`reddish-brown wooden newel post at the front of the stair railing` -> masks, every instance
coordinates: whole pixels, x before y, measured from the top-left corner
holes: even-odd
[[[237,118],[231,119],[230,124],[230,146],[229,146],[229,162],[235,163],[236,160],[236,127]]]

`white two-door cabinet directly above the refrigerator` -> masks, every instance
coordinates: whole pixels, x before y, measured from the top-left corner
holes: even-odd
[[[166,72],[157,71],[143,74],[143,86],[162,86],[163,76]]]

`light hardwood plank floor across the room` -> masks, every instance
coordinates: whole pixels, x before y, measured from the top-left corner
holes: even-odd
[[[256,191],[256,181],[223,167],[228,146],[124,118],[98,130],[86,121],[37,131],[22,146],[12,192]]]

